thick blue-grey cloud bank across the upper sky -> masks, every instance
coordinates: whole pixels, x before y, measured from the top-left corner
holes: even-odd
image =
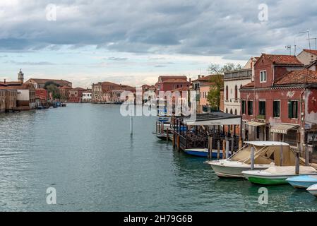
[[[68,44],[74,49],[95,45],[117,52],[246,59],[265,50],[280,50],[294,44],[294,39],[306,47],[306,37],[298,33],[314,28],[317,2],[265,2],[268,21],[261,23],[262,0],[56,0],[56,21],[45,19],[44,8],[51,1],[20,1],[19,7],[6,8],[6,18],[0,20],[0,50],[57,50]],[[19,19],[11,20],[13,16]]]

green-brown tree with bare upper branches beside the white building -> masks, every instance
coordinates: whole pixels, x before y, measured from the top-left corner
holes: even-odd
[[[220,106],[220,90],[224,88],[223,76],[227,71],[235,71],[241,69],[240,64],[232,64],[228,63],[224,66],[220,66],[219,64],[210,64],[208,67],[208,71],[210,74],[213,74],[210,78],[210,91],[208,92],[207,100],[211,107],[214,109],[219,109]]]

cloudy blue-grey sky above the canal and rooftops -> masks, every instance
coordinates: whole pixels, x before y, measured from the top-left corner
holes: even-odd
[[[83,88],[197,78],[210,64],[309,49],[300,32],[317,36],[316,12],[310,0],[1,0],[0,81],[20,69]]]

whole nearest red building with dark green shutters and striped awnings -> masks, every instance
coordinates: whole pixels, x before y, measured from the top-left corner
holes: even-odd
[[[268,54],[254,69],[254,81],[240,90],[244,138],[301,144],[302,150],[317,122],[316,71],[294,56]]]

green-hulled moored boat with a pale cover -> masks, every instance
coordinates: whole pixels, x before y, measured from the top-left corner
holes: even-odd
[[[265,185],[288,184],[287,178],[298,175],[295,172],[295,166],[273,166],[265,170],[244,171],[242,174],[253,184]],[[317,175],[317,170],[309,166],[300,166],[299,174]]]

